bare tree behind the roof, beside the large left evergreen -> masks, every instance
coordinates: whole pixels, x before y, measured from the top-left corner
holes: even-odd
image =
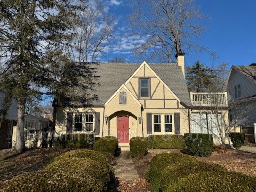
[[[80,22],[72,28],[74,44],[68,51],[72,53],[74,61],[94,62],[108,53],[114,38],[116,18],[106,12],[106,4],[102,0],[84,4],[86,8],[77,13]]]

